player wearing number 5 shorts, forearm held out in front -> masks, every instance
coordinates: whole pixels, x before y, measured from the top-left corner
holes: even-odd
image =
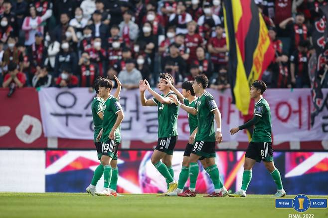
[[[215,164],[215,142],[222,142],[221,134],[221,113],[216,106],[213,96],[206,91],[208,85],[208,78],[201,74],[195,77],[192,88],[198,96],[196,109],[181,104],[175,96],[171,96],[171,100],[180,106],[183,110],[192,115],[197,115],[198,125],[195,143],[189,157],[190,163],[190,187],[195,187],[198,177],[197,161],[200,157],[204,157],[208,165],[206,172],[214,184],[214,192],[204,197],[223,197],[226,196],[227,190],[220,182],[219,170]],[[216,123],[216,130],[214,128],[214,120]],[[188,195],[195,195],[194,188],[189,188]],[[183,193],[181,193],[183,194]],[[184,195],[179,195],[184,196]]]

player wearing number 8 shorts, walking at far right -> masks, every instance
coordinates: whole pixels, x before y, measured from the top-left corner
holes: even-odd
[[[251,86],[250,94],[256,102],[254,117],[247,123],[232,128],[231,135],[236,134],[239,130],[243,130],[255,125],[252,135],[252,140],[248,145],[245,154],[244,173],[241,189],[234,193],[229,194],[229,197],[246,197],[246,190],[252,179],[252,168],[255,162],[263,161],[264,166],[270,172],[273,180],[277,185],[277,193],[275,197],[281,198],[286,196],[283,189],[281,177],[278,169],[273,163],[273,151],[271,145],[271,113],[268,102],[263,98],[263,93],[267,86],[262,80],[255,80]]]

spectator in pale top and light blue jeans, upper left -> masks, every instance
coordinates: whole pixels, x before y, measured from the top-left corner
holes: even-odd
[[[43,26],[41,26],[43,20],[40,16],[36,16],[34,6],[29,8],[29,13],[30,16],[25,17],[21,27],[21,29],[25,31],[25,45],[27,46],[35,42],[35,34],[37,32],[43,34]]]

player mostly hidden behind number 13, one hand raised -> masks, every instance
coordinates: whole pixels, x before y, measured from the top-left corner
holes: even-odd
[[[115,76],[114,77],[116,82],[118,83],[118,87],[116,89],[116,92],[114,93],[114,96],[116,98],[119,97],[120,95],[120,91],[121,91],[121,82],[119,81],[119,79]],[[101,136],[101,132],[102,132],[102,126],[103,126],[103,118],[104,118],[104,114],[103,114],[103,106],[104,106],[104,99],[101,97],[101,95],[99,94],[99,84],[107,79],[104,79],[102,77],[98,77],[95,82],[94,82],[94,88],[95,91],[97,93],[97,97],[95,97],[93,99],[93,102],[91,104],[91,111],[92,111],[92,117],[93,117],[93,123],[94,123],[94,143],[97,149],[97,153],[98,153],[98,159],[101,160],[102,157],[102,143],[99,142],[99,136]],[[111,165],[113,167],[113,175],[116,173],[116,175],[114,175],[111,179],[111,189],[112,189],[112,184],[113,184],[113,188],[116,187],[117,184],[117,178],[118,178],[118,170],[117,170],[117,154],[116,156],[114,156],[114,159],[116,158],[116,160],[111,161]],[[116,168],[116,170],[115,170]],[[104,166],[103,163],[101,161],[101,164],[96,168],[91,184],[87,187],[86,192],[94,195],[95,191],[96,191],[96,185],[97,182],[99,181],[99,179],[101,178],[101,176],[103,175],[104,172]],[[114,190],[113,190],[114,191]],[[116,189],[115,192],[113,192],[113,195],[116,194]]]

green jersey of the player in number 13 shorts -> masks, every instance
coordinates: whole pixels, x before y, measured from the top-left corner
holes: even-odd
[[[110,95],[104,102],[104,120],[103,120],[103,136],[102,141],[109,140],[109,133],[111,132],[116,119],[117,113],[122,110],[121,104],[117,98]],[[121,127],[115,130],[115,142],[121,143]]]

